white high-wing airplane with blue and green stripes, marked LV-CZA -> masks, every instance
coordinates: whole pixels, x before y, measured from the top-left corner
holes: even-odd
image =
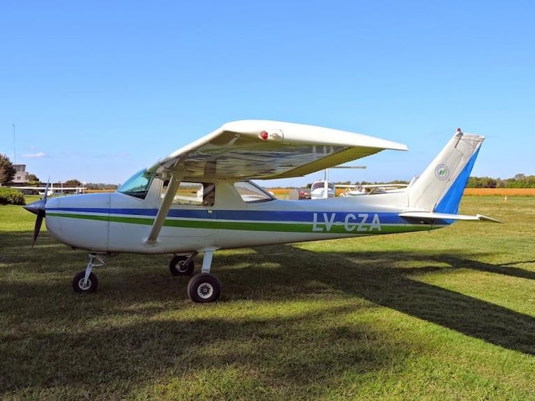
[[[458,129],[405,190],[302,202],[276,199],[250,180],[303,176],[407,146],[318,126],[234,121],[140,170],[116,192],[45,195],[24,207],[37,215],[34,243],[46,217],[54,239],[90,252],[85,270],[73,279],[75,292],[96,290],[92,270],[104,264],[102,255],[171,254],[171,273],[192,275],[202,253],[201,272],[190,278],[187,293],[194,302],[210,303],[221,293],[211,273],[217,250],[417,232],[455,220],[497,222],[457,214],[483,139]]]

